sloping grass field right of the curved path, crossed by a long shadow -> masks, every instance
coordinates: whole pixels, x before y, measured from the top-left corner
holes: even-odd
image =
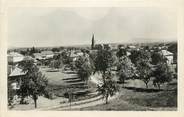
[[[108,104],[87,107],[80,110],[176,110],[177,83],[174,82],[163,87],[164,90],[140,88],[140,85],[139,88],[121,87],[118,99],[111,100]]]

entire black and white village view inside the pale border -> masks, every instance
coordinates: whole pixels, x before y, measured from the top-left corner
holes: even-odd
[[[177,111],[177,10],[10,7],[9,111]]]

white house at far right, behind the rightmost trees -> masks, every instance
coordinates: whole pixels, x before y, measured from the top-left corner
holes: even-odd
[[[171,65],[173,63],[173,53],[167,50],[161,50],[160,53],[167,59],[168,65]]]

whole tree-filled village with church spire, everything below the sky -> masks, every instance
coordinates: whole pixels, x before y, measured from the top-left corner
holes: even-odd
[[[177,43],[9,49],[11,110],[175,110]]]

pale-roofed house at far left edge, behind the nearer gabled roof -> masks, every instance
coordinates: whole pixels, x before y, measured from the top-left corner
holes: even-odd
[[[8,54],[8,63],[18,63],[24,59],[24,55],[19,54],[18,52],[10,52]]]

